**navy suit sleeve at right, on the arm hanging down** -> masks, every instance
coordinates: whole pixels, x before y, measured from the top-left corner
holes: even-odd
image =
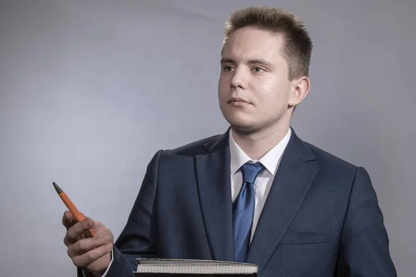
[[[397,276],[376,192],[370,176],[361,167],[356,170],[349,196],[336,276]]]

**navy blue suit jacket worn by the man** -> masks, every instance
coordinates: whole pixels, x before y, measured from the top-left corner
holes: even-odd
[[[135,258],[234,260],[228,132],[150,161],[107,277]],[[292,136],[247,262],[260,277],[397,276],[370,177]]]

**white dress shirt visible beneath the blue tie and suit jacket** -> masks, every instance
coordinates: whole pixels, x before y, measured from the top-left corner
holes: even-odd
[[[229,132],[229,154],[231,161],[229,172],[231,173],[231,195],[233,202],[239,195],[241,186],[243,185],[243,175],[241,174],[240,169],[241,166],[249,161],[253,163],[259,161],[266,168],[266,170],[263,170],[259,174],[256,181],[254,182],[255,204],[250,241],[252,240],[254,231],[256,230],[257,222],[259,221],[263,206],[266,203],[266,199],[270,191],[270,187],[272,186],[273,179],[275,179],[275,174],[277,172],[281,156],[283,155],[283,152],[286,149],[290,138],[291,128],[288,129],[286,136],[284,136],[284,138],[279,143],[277,143],[275,147],[264,154],[261,159],[252,160],[234,141],[231,130]]]

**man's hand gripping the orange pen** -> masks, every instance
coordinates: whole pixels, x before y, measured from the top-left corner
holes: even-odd
[[[64,244],[68,247],[68,256],[76,267],[89,271],[93,276],[102,276],[110,265],[114,236],[101,222],[85,217],[76,222],[69,211],[65,211],[62,224],[67,228]],[[92,228],[96,234],[89,233]]]

